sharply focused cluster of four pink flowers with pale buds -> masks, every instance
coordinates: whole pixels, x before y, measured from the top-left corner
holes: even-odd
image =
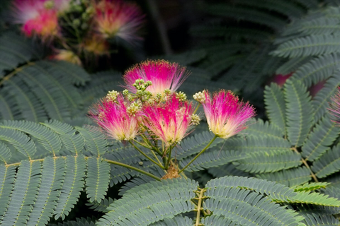
[[[123,76],[123,94],[109,92],[90,114],[117,140],[133,140],[141,135],[160,140],[166,147],[176,145],[200,121],[193,103],[184,93],[176,93],[186,76],[186,69],[178,64],[142,62]],[[254,107],[239,101],[230,91],[221,90],[210,97],[205,90],[194,99],[203,105],[210,131],[220,138],[239,133],[255,115]]]

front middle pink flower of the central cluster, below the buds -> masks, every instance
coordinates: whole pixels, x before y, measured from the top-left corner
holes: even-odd
[[[180,102],[176,95],[159,105],[145,105],[142,109],[142,122],[155,136],[164,141],[166,146],[179,143],[188,135],[193,122],[193,105]]]

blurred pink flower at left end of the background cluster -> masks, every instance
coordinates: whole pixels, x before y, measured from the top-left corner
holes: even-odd
[[[15,0],[13,17],[13,22],[22,24],[21,30],[28,37],[37,35],[47,40],[57,35],[60,29],[53,1]]]

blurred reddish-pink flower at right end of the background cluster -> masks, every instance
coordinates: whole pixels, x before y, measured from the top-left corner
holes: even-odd
[[[120,0],[101,0],[94,8],[96,30],[104,38],[120,37],[127,42],[140,39],[136,33],[144,16],[137,5]]]

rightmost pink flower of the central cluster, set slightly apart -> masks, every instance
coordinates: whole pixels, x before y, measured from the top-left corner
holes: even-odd
[[[254,107],[248,102],[239,102],[239,97],[230,91],[220,90],[212,99],[204,91],[202,102],[210,131],[220,138],[229,138],[246,129],[246,122],[255,116]]]

